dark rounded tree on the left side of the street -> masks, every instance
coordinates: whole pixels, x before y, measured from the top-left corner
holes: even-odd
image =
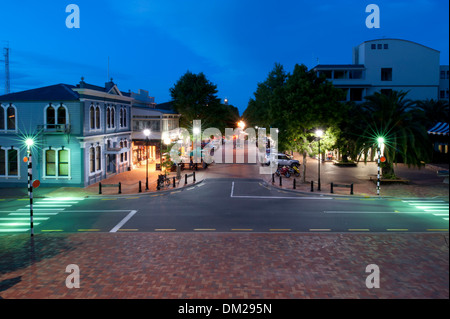
[[[191,127],[192,121],[199,119],[213,127],[223,111],[216,94],[217,86],[203,73],[187,71],[170,89],[174,109],[181,114],[180,126]]]

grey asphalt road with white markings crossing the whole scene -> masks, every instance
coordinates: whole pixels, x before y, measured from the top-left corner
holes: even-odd
[[[153,195],[37,199],[34,223],[35,233],[448,232],[449,228],[448,201],[441,199],[298,194],[238,177],[207,179]],[[0,234],[29,231],[28,202],[0,202]]]

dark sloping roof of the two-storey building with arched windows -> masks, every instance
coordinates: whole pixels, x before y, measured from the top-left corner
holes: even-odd
[[[69,84],[55,84],[0,96],[0,101],[73,101],[78,100],[78,93]]]

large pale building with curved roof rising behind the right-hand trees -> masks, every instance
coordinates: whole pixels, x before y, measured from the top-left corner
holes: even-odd
[[[375,92],[389,94],[392,90],[408,91],[407,98],[412,100],[436,100],[442,90],[439,64],[440,52],[435,49],[407,40],[378,39],[353,48],[352,64],[313,69],[343,89],[347,101],[359,102]],[[446,70],[448,98],[448,66]]]

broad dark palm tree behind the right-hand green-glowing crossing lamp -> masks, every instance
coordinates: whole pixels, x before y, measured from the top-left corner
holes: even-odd
[[[382,166],[385,178],[394,178],[394,163],[402,160],[408,166],[422,166],[431,156],[427,129],[414,111],[415,103],[406,99],[407,92],[393,91],[385,95],[374,93],[362,105],[358,148],[367,153],[384,138],[386,162]]]

